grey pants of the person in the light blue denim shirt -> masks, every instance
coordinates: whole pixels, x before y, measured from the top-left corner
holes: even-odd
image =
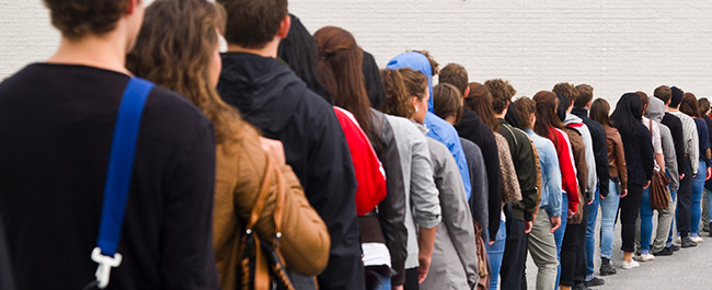
[[[537,290],[551,290],[556,286],[556,271],[559,259],[556,257],[556,242],[551,233],[551,221],[543,208],[535,219],[533,228],[529,233],[529,254],[539,269],[537,272]]]

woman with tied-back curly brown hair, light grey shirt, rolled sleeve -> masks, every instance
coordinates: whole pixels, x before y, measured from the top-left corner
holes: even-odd
[[[402,286],[395,283],[393,289],[417,290],[430,268],[437,225],[441,221],[440,201],[432,174],[427,139],[410,119],[420,109],[413,106],[403,88],[403,77],[398,71],[381,70],[381,80],[384,88],[382,111],[393,127],[403,179],[409,181],[405,183],[405,277]]]

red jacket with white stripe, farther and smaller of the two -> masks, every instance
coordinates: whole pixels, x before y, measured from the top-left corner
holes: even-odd
[[[561,129],[549,129],[549,139],[556,146],[556,155],[559,156],[559,169],[561,169],[561,185],[569,196],[569,210],[576,212],[576,207],[581,202],[578,199],[578,179],[576,178],[576,166],[574,165],[574,155],[571,151],[569,136]],[[555,135],[555,138],[553,138]]]

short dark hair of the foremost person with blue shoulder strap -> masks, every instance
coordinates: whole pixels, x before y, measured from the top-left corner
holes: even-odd
[[[129,0],[44,0],[49,9],[51,25],[69,39],[87,34],[104,35],[116,28],[126,13]],[[140,0],[138,1],[140,2]]]

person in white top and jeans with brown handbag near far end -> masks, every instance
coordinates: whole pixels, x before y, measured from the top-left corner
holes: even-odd
[[[650,105],[650,97],[644,92],[635,92],[641,98],[643,106],[642,123],[647,128],[651,139],[653,141],[653,153],[655,156],[655,171],[662,171],[666,167],[665,155],[663,154],[663,138],[661,127],[657,123],[645,117],[647,115],[647,107]],[[664,210],[658,210],[658,216],[663,214]],[[653,234],[653,208],[651,206],[651,188],[643,189],[641,197],[640,216],[635,221],[635,245],[639,252],[635,255],[640,256],[641,262],[655,260],[655,256],[651,252],[651,236]]]

